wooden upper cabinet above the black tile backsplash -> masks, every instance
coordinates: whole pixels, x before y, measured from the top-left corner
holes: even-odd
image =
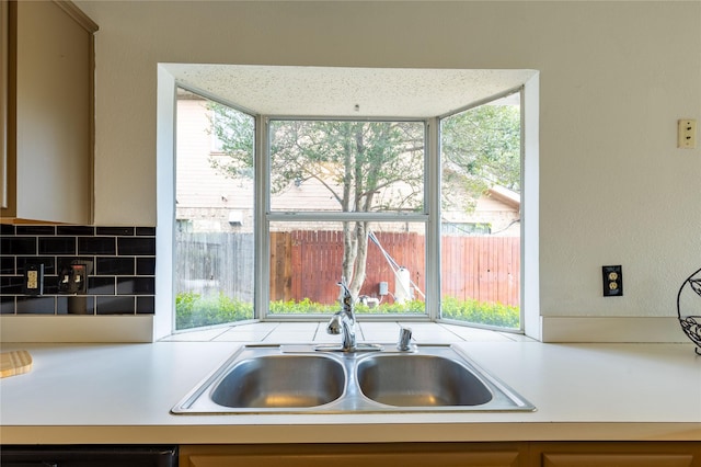
[[[2,11],[0,217],[92,224],[97,26],[66,1],[2,0]]]

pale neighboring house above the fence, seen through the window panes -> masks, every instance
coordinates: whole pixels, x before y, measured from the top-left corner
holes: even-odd
[[[217,151],[210,125],[206,101],[192,94],[179,100],[175,214],[179,228],[210,232],[252,231],[253,181],[227,178],[211,167],[210,157],[227,156]],[[273,203],[278,208],[300,205],[312,205],[317,209],[327,207],[329,210],[338,208],[330,192],[314,180],[290,183]],[[455,234],[518,237],[520,196],[505,187],[493,186],[476,201],[473,210],[444,208],[443,217],[444,223],[451,224]]]

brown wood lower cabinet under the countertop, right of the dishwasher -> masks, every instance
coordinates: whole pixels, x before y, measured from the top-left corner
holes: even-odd
[[[181,446],[180,467],[701,467],[701,442]]]

